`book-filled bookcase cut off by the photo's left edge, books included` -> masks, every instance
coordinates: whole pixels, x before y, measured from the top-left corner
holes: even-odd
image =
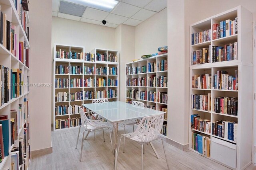
[[[18,0],[0,0],[0,170],[28,169],[30,163],[27,9]]]

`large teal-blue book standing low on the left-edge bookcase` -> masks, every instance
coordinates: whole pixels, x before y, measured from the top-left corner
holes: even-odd
[[[4,141],[4,156],[9,155],[9,119],[0,120],[0,124],[2,124],[2,133],[3,133],[3,141]]]

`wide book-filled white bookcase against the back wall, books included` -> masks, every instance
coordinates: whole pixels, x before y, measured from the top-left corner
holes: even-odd
[[[59,58],[56,58],[56,55]],[[55,44],[54,131],[78,126],[80,124],[78,106],[92,103],[94,98],[107,98],[110,102],[118,101],[118,69],[118,51],[95,48],[91,53],[85,53],[85,48],[82,46]],[[59,124],[60,127],[57,127],[61,121],[64,124]]]

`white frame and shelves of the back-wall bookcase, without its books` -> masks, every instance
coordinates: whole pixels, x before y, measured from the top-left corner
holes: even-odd
[[[80,117],[80,113],[76,112],[74,114],[71,113],[71,110],[68,112],[68,114],[64,114],[64,115],[56,115],[55,114],[55,106],[61,106],[61,105],[67,105],[67,106],[74,106],[74,105],[78,105],[78,106],[81,106],[82,104],[86,104],[86,103],[92,103],[92,99],[85,99],[84,98],[84,92],[85,91],[106,91],[108,92],[109,90],[116,90],[116,96],[101,96],[101,98],[107,98],[110,102],[112,101],[118,101],[119,99],[119,92],[118,92],[118,84],[119,84],[119,74],[118,74],[118,71],[119,71],[119,63],[118,61],[117,62],[110,62],[110,61],[85,61],[84,58],[83,59],[60,59],[60,58],[56,58],[55,57],[55,52],[56,51],[59,51],[59,49],[62,49],[62,50],[66,50],[66,52],[70,52],[70,51],[76,51],[76,52],[79,52],[79,53],[83,53],[84,54],[84,58],[85,58],[85,48],[82,47],[82,46],[70,46],[70,45],[62,45],[62,44],[55,44],[54,45],[54,66],[53,66],[53,98],[54,98],[54,102],[53,102],[53,120],[54,120],[54,131],[58,131],[58,130],[62,130],[61,128],[60,129],[56,129],[55,127],[55,124],[56,124],[56,120],[58,119],[62,119],[62,120],[66,120],[66,119],[72,119],[72,118],[76,118],[76,117]],[[95,54],[96,53],[100,53],[100,54],[103,54],[103,53],[106,53],[106,54],[109,54],[109,53],[112,53],[114,54],[115,56],[118,57],[118,51],[115,51],[115,50],[107,50],[107,49],[94,49],[92,50],[92,53],[95,57]],[[66,66],[81,66],[82,67],[82,74],[55,74],[56,73],[56,66],[59,66],[60,64],[62,65],[66,65]],[[92,74],[88,74],[86,72],[84,72],[84,69],[85,67],[89,67],[89,68],[92,68],[94,67],[95,69],[98,68],[98,67],[106,67],[106,68],[112,68],[112,67],[116,67],[117,70],[116,70],[116,74],[115,75],[112,75],[110,74],[110,72],[106,72],[106,74],[98,74],[96,71],[95,73],[92,73]],[[82,86],[80,87],[71,87],[71,86],[68,86],[68,87],[65,87],[65,88],[55,88],[56,87],[56,84],[55,84],[55,79],[56,78],[67,78],[69,79],[69,81],[71,81],[71,79],[73,78],[81,78],[81,79],[88,79],[88,78],[92,78],[92,79],[95,79],[97,80],[98,78],[105,78],[106,80],[106,86],[97,86],[97,84],[94,84],[94,86],[84,86],[84,84],[82,84]],[[108,84],[108,79],[110,80],[117,80],[117,86],[108,86],[110,84]],[[74,93],[74,92],[80,92],[82,91],[83,92],[83,99],[82,100],[68,100],[66,102],[56,102],[55,100],[55,95],[58,93],[58,92],[68,92],[69,94],[70,93]],[[95,98],[100,98],[99,96],[95,96]],[[72,128],[72,127],[68,127],[68,128]],[[63,129],[66,129],[66,128],[63,128]]]

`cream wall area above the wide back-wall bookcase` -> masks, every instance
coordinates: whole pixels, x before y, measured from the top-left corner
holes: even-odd
[[[115,28],[52,17],[52,47],[54,43],[94,48],[115,49]],[[52,56],[53,57],[53,56]]]

